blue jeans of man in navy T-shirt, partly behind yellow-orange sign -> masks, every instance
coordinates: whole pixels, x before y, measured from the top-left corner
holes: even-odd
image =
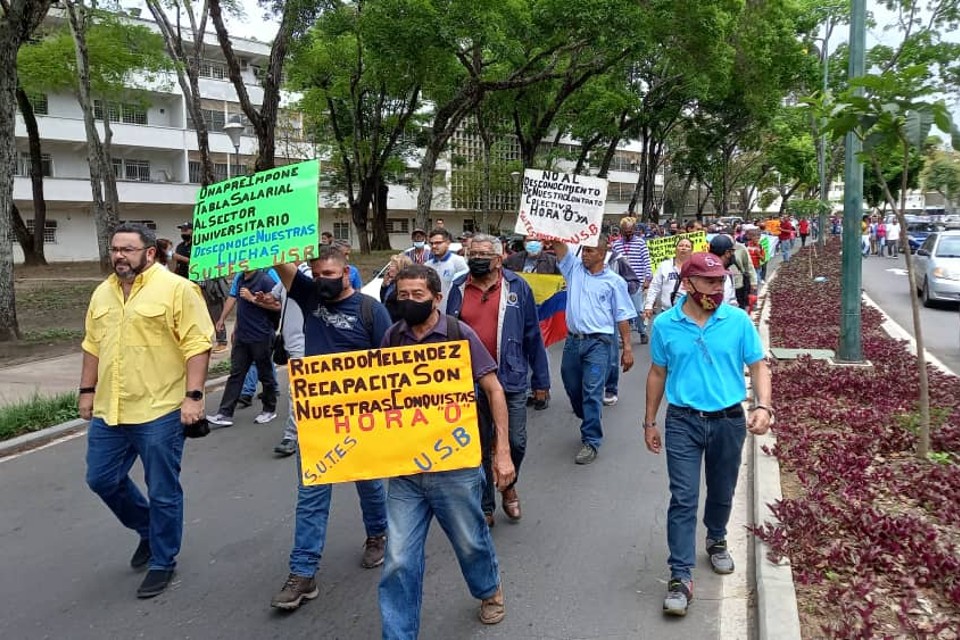
[[[297,468],[301,468],[297,453]],[[302,474],[300,476],[302,478]],[[367,536],[383,535],[387,531],[386,493],[383,480],[361,480],[357,485],[360,511]],[[290,551],[290,573],[312,578],[320,566],[320,556],[327,541],[327,519],[330,517],[332,484],[304,486],[298,482],[297,520],[293,531],[293,549]]]

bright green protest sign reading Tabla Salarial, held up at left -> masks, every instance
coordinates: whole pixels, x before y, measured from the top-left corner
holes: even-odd
[[[193,209],[190,279],[210,280],[315,255],[319,160],[200,189]]]

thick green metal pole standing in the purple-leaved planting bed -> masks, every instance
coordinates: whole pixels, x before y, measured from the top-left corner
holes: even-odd
[[[850,15],[850,64],[848,79],[866,72],[867,2],[852,0]],[[854,90],[863,95],[863,87]],[[863,255],[860,252],[860,222],[863,217],[863,163],[859,154],[863,144],[855,133],[848,133],[843,164],[843,266],[840,302],[840,362],[863,362],[863,332],[860,298]]]

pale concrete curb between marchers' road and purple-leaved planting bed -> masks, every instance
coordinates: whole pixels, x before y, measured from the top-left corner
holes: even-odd
[[[770,305],[767,291],[776,278],[774,272],[764,286],[758,328],[764,350],[770,348]],[[764,452],[776,444],[770,431],[764,436],[754,436],[750,449],[753,463],[753,522],[758,527],[765,523],[777,524],[776,517],[767,505],[783,497],[780,489],[780,463],[776,456]],[[753,538],[754,567],[757,581],[757,630],[759,640],[800,640],[800,613],[797,608],[797,591],[793,583],[793,569],[789,560],[780,563],[768,558],[769,547]]]

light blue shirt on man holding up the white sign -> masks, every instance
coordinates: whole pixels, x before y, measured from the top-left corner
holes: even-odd
[[[616,335],[618,322],[637,317],[626,280],[610,267],[590,273],[570,251],[557,266],[567,281],[568,331]]]

